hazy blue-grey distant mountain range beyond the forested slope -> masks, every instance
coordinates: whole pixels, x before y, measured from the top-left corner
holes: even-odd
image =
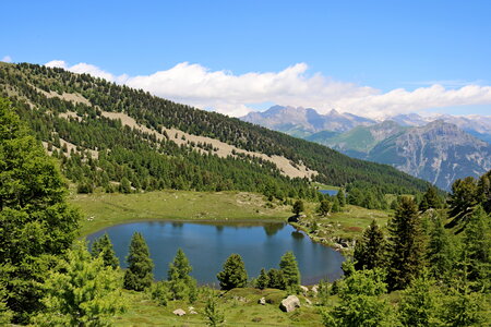
[[[491,169],[491,117],[398,114],[385,121],[274,106],[242,120],[393,167],[450,190]]]

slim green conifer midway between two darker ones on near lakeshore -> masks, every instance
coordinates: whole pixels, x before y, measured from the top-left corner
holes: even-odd
[[[194,302],[197,296],[196,280],[189,274],[192,271],[191,264],[181,249],[178,249],[173,262],[169,264],[167,280],[169,290],[175,300],[188,299]]]

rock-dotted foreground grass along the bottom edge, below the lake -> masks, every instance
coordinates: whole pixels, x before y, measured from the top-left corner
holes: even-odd
[[[220,293],[218,300],[219,311],[225,314],[224,326],[322,326],[321,316],[315,305],[309,305],[306,298],[298,295],[301,307],[292,313],[279,310],[279,302],[287,296],[280,290],[258,290],[252,288],[235,289]],[[116,317],[116,326],[205,326],[206,317],[203,315],[205,295],[189,304],[183,301],[170,301],[168,306],[159,306],[145,293],[123,291],[123,296],[129,302],[129,308],[124,314]],[[266,305],[258,304],[262,296],[272,299]],[[246,302],[243,300],[246,299]],[[197,313],[187,314],[182,317],[172,314],[172,311],[182,308],[189,313],[189,306],[193,306]]]

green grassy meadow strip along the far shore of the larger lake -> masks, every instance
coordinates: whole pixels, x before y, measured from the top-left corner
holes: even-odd
[[[290,207],[267,203],[246,192],[160,191],[137,194],[76,194],[71,201],[82,211],[81,234],[103,228],[152,219],[200,221],[283,221]]]

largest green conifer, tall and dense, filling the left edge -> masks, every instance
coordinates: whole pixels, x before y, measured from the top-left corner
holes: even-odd
[[[75,239],[79,219],[58,166],[0,98],[0,282],[14,323],[41,308],[40,284]]]

